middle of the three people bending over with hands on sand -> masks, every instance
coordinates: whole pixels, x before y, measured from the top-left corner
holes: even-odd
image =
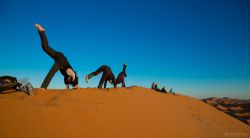
[[[113,74],[111,68],[107,65],[103,65],[100,68],[98,68],[96,71],[90,73],[86,76],[86,82],[88,82],[93,76],[97,76],[98,74],[102,73],[102,78],[98,84],[98,88],[102,88],[104,84],[104,88],[107,86],[107,82],[110,82],[114,85],[114,88],[116,88],[116,82],[115,82],[115,75]]]

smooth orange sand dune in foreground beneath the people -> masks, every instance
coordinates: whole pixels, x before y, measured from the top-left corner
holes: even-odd
[[[250,137],[250,127],[188,97],[142,87],[0,94],[0,137]]]

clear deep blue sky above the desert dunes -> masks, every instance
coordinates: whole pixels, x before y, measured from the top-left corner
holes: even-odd
[[[1,0],[0,75],[40,87],[53,60],[34,23],[80,76],[103,64],[128,85],[153,81],[195,97],[250,98],[249,0]],[[109,85],[110,86],[110,85]],[[58,72],[49,88],[64,88]]]

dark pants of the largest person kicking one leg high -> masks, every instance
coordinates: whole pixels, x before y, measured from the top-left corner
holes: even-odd
[[[55,60],[54,65],[52,66],[52,68],[48,72],[47,76],[45,77],[45,79],[41,85],[41,88],[46,89],[49,86],[50,81],[53,78],[53,76],[55,75],[55,73],[58,70],[62,69],[64,66],[66,66],[68,64],[68,61],[67,61],[66,57],[61,52],[57,52],[49,46],[45,31],[39,32],[39,35],[41,38],[43,50],[51,58],[53,58]]]

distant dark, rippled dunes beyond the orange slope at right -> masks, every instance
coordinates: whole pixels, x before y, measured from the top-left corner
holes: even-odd
[[[211,97],[202,101],[250,126],[250,100]]]

